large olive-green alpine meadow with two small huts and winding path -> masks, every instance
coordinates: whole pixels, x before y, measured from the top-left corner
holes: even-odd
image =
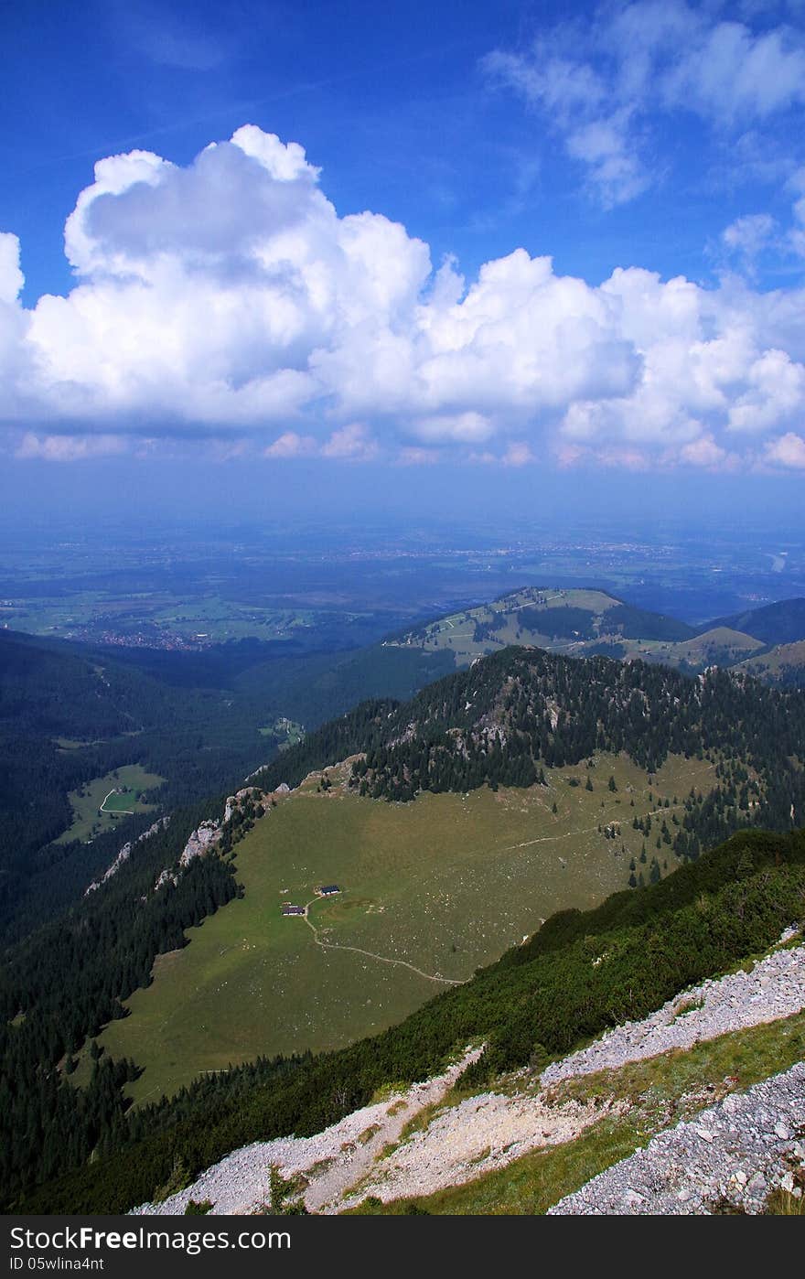
[[[649,781],[625,756],[598,756],[593,769],[553,770],[548,787],[407,804],[360,798],[346,775],[326,770],[329,789],[308,779],[255,825],[235,847],[244,897],[160,955],[152,984],[127,1000],[131,1016],[104,1031],[111,1056],[145,1068],[131,1086],[137,1101],[260,1054],[375,1033],[554,911],[626,888],[632,858],[646,883],[654,853],[663,875],[674,870],[666,845],[641,865],[632,819],[666,798],[671,819],[674,797],[681,806],[691,787],[710,789],[713,765],[672,757]],[[323,885],[340,891],[319,898]],[[307,918],[284,917],[285,903],[306,906]]]

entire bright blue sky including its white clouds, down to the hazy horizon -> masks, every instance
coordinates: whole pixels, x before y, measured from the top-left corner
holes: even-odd
[[[795,501],[800,0],[27,0],[0,40],[17,503],[137,467]]]

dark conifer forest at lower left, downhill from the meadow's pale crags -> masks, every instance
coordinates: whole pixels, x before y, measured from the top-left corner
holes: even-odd
[[[132,1062],[95,1059],[86,1088],[70,1083],[73,1054],[120,1000],[147,985],[157,954],[186,944],[198,923],[238,891],[219,857],[195,858],[177,883],[157,886],[191,830],[218,804],[177,811],[102,891],[6,952],[0,973],[0,1184],[9,1202],[24,1186],[83,1163],[101,1140],[122,1133],[120,1086]]]

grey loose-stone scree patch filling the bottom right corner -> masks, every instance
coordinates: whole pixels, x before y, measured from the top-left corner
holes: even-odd
[[[805,1172],[805,1062],[659,1133],[549,1211],[570,1215],[760,1212]]]

